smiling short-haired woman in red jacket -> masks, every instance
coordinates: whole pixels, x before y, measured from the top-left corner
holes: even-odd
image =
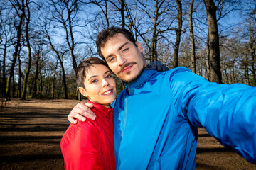
[[[96,120],[70,124],[60,142],[65,169],[115,169],[114,109],[116,84],[107,64],[96,57],[83,60],[76,70],[79,91],[93,104]]]

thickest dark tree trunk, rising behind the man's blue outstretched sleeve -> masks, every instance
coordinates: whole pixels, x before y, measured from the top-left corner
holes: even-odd
[[[210,37],[210,81],[221,83],[220,71],[220,46],[218,36],[218,24],[216,19],[216,10],[213,0],[204,0],[209,27]]]

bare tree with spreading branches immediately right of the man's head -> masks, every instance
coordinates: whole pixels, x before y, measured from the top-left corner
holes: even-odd
[[[138,2],[138,3],[137,3]],[[171,30],[174,30],[173,10],[175,6],[171,1],[155,0],[154,4],[146,4],[144,1],[136,1],[133,8],[126,6],[129,18],[129,29],[134,30],[135,37],[142,38],[148,53],[146,60],[154,62],[158,60],[158,42],[167,40]],[[141,11],[134,15],[132,11]],[[139,18],[135,18],[139,16]]]

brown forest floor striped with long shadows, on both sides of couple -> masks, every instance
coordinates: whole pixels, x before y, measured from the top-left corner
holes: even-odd
[[[80,101],[13,98],[0,110],[0,169],[64,169],[60,139]],[[256,169],[198,129],[196,169]]]

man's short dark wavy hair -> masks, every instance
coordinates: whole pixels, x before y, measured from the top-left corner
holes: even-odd
[[[137,47],[137,44],[135,43],[136,40],[134,39],[134,36],[132,35],[129,30],[124,29],[124,28],[117,28],[117,27],[110,27],[102,30],[100,33],[97,35],[97,40],[96,40],[96,46],[97,46],[97,52],[98,55],[105,60],[104,56],[102,55],[101,48],[105,46],[106,42],[110,40],[110,38],[114,37],[114,35],[117,35],[121,33],[124,35],[125,38],[130,40],[131,42],[134,43],[134,45]]]

